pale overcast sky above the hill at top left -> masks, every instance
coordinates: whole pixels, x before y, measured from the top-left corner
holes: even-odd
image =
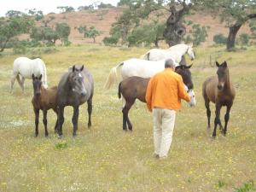
[[[114,6],[119,0],[0,0],[0,16],[4,16],[9,10],[19,10],[26,12],[28,9],[38,9],[44,12],[44,15],[50,12],[59,13],[58,6],[72,6],[78,9],[79,6],[89,5],[95,2],[111,3]]]

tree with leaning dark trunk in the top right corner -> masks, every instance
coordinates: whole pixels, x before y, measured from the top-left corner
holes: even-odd
[[[226,48],[235,48],[236,34],[241,26],[256,18],[256,1],[252,0],[195,0],[197,7],[208,9],[212,15],[219,16],[221,22],[229,27]]]

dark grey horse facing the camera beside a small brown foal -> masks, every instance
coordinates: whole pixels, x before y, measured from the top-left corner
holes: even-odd
[[[64,108],[73,106],[73,137],[77,135],[79,106],[87,102],[89,114],[88,128],[91,126],[92,97],[94,92],[94,81],[88,69],[73,65],[61,77],[57,90],[58,113],[58,135],[62,137],[62,125],[64,123]]]

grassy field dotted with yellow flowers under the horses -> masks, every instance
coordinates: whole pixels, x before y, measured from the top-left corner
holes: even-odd
[[[256,48],[225,52],[224,48],[195,49],[191,68],[197,105],[177,113],[167,160],[153,157],[153,120],[137,102],[130,117],[134,131],[122,130],[117,84],[103,90],[111,67],[142,55],[143,48],[96,45],[57,48],[40,56],[48,70],[49,86],[58,84],[67,67],[83,63],[95,79],[92,127],[87,129],[86,105],[80,107],[78,137],[73,138],[72,108],[65,109],[64,137],[54,134],[55,113],[49,112],[49,137],[44,137],[42,113],[39,136],[34,137],[32,81],[22,93],[17,82],[9,94],[11,50],[0,56],[0,191],[238,191],[256,182]],[[38,55],[33,50],[26,56]],[[45,50],[47,52],[47,49]],[[227,61],[236,85],[227,137],[207,131],[201,84],[216,73],[213,61]],[[211,105],[212,116],[214,106]],[[224,118],[224,109],[221,113]],[[213,125],[213,117],[212,117]],[[255,189],[255,186],[254,186]],[[247,191],[247,190],[243,190]]]

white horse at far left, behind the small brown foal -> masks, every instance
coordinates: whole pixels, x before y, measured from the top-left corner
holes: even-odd
[[[47,85],[47,75],[46,75],[46,67],[44,61],[37,58],[31,60],[26,57],[18,57],[14,61],[14,71],[13,71],[13,78],[11,79],[11,90],[13,91],[15,79],[17,79],[18,83],[22,91],[24,91],[24,81],[25,79],[32,79],[32,74],[36,77],[39,77],[41,74],[43,75],[43,85],[45,88],[48,87]],[[21,76],[21,80],[20,80]]]

